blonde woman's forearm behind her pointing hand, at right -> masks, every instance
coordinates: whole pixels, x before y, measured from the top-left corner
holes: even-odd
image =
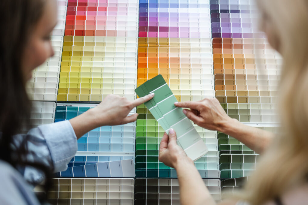
[[[274,134],[240,123],[230,118],[218,131],[234,137],[257,153],[262,153],[271,142]]]

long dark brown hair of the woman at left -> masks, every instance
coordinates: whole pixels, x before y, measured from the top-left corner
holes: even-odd
[[[51,170],[37,162],[26,161],[27,135],[17,150],[13,150],[13,135],[30,119],[31,102],[22,74],[22,57],[27,41],[42,17],[46,0],[0,1],[0,159],[14,168],[31,166],[47,177],[45,191],[51,185]],[[14,157],[12,154],[14,153]],[[16,157],[17,156],[17,157]]]

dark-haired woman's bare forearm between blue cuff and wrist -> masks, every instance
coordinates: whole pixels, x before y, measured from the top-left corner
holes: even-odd
[[[75,131],[77,139],[79,139],[85,133],[97,127],[103,126],[95,120],[95,111],[93,108],[77,117],[72,118],[69,121]]]

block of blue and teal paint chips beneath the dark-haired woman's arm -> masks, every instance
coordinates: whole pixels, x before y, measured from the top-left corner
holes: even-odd
[[[69,120],[97,104],[57,104],[55,122]],[[136,112],[133,109],[129,115]],[[65,177],[134,177],[136,122],[102,126],[77,141],[78,151],[68,164]]]

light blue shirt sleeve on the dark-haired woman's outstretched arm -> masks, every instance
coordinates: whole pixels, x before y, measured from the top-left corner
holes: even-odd
[[[53,171],[64,171],[67,164],[77,152],[77,139],[69,121],[39,125],[27,134],[27,158],[30,161],[49,167],[53,164]],[[14,140],[20,144],[26,135],[16,135]],[[16,144],[16,145],[18,145]],[[52,162],[51,162],[52,161]],[[33,167],[26,167],[24,177],[34,183],[40,182],[43,175]]]

